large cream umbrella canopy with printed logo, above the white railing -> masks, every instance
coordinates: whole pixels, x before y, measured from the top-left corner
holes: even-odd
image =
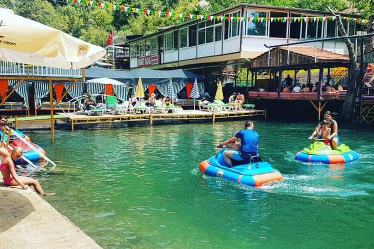
[[[3,8],[0,40],[0,60],[37,66],[80,69],[106,54],[101,47]]]

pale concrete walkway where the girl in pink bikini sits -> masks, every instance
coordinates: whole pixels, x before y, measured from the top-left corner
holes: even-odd
[[[101,249],[31,189],[6,187],[1,174],[0,248]]]

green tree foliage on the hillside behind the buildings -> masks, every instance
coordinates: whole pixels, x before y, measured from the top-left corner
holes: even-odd
[[[327,10],[330,6],[336,11],[357,8],[365,18],[374,15],[374,0],[207,0],[209,6],[198,6],[200,0],[107,0],[115,5],[146,8],[173,13],[211,14],[224,8],[240,4],[263,4],[302,9]],[[99,46],[106,46],[109,32],[114,28],[115,42],[125,40],[127,35],[148,35],[157,28],[177,25],[184,20],[179,18],[159,18],[142,14],[109,11],[107,9],[66,4],[53,0],[0,0],[0,7],[13,9],[16,14],[60,29],[72,36],[84,39]],[[239,77],[243,77],[242,72]]]

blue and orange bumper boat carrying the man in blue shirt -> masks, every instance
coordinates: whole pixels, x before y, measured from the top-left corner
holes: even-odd
[[[263,162],[259,156],[244,162],[233,160],[234,167],[228,168],[224,166],[224,151],[221,150],[215,157],[202,161],[200,171],[207,176],[221,177],[252,187],[259,187],[283,178],[278,170],[273,169],[269,163]]]

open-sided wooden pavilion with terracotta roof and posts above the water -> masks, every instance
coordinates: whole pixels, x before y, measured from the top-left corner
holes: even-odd
[[[313,107],[318,112],[318,120],[320,120],[321,111],[326,106],[327,101],[321,106],[323,99],[321,98],[322,89],[321,83],[323,79],[323,69],[328,69],[330,75],[331,68],[345,67],[350,73],[350,61],[348,55],[332,53],[326,50],[318,49],[317,47],[302,47],[302,46],[282,46],[269,49],[268,52],[262,53],[251,61],[247,62],[244,67],[252,73],[252,82],[257,80],[259,72],[268,71],[270,74],[276,75],[279,72],[279,82],[276,77],[273,77],[274,85],[278,85],[278,97],[281,95],[282,85],[282,71],[294,70],[295,78],[297,72],[305,70],[308,72],[307,83],[311,83],[311,70],[319,69],[318,84],[317,84],[317,99],[315,102],[309,100]]]

